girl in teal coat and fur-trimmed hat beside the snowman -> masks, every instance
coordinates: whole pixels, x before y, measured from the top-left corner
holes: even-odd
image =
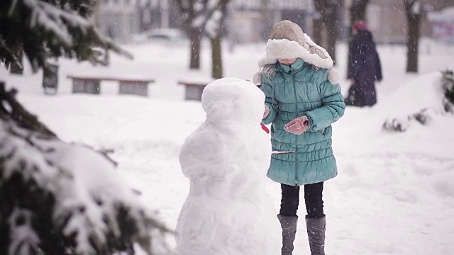
[[[267,176],[281,183],[277,218],[282,227],[282,255],[290,255],[297,232],[299,187],[304,186],[306,227],[311,254],[325,254],[326,217],[323,181],[337,175],[331,148],[331,124],[345,103],[333,60],[292,21],[273,26],[260,72],[253,81],[265,93],[263,124],[271,125],[273,154]]]

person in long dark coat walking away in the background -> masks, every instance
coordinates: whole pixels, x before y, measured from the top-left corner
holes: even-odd
[[[350,80],[350,89],[345,98],[345,104],[360,107],[373,106],[377,103],[375,81],[382,80],[380,57],[365,21],[355,21],[352,33],[347,76]]]

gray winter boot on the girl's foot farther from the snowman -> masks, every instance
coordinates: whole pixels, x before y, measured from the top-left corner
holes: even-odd
[[[326,217],[310,218],[306,216],[307,236],[312,255],[325,255]]]

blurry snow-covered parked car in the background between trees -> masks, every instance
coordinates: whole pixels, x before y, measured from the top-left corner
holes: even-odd
[[[163,45],[184,45],[189,43],[187,35],[177,28],[153,28],[132,35],[133,43],[157,43]]]

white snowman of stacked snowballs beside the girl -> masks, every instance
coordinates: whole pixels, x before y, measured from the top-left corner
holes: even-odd
[[[280,254],[279,222],[265,195],[271,145],[260,128],[264,101],[241,79],[218,79],[204,89],[206,120],[179,154],[190,191],[178,217],[177,253]]]

